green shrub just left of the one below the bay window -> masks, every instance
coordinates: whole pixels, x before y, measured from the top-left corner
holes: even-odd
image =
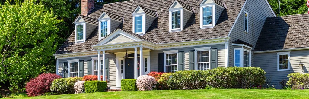
[[[214,68],[206,71],[206,82],[213,87],[234,88],[237,85],[239,71],[241,68]]]

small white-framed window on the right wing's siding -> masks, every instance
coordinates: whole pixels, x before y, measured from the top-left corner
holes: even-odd
[[[277,53],[278,71],[290,70],[290,52],[278,52]]]

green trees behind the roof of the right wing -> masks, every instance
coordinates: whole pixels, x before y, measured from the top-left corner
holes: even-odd
[[[273,11],[278,16],[278,0],[268,0]],[[307,13],[307,0],[280,0],[280,16]]]

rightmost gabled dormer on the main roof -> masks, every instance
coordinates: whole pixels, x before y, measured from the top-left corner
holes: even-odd
[[[225,4],[219,0],[203,0],[200,4],[201,29],[213,28],[225,8]]]

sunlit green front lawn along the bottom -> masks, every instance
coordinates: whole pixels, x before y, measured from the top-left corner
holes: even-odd
[[[309,90],[257,90],[257,89],[212,89],[212,90],[154,90],[130,92],[100,92],[83,94],[65,94],[23,99],[309,99]]]

